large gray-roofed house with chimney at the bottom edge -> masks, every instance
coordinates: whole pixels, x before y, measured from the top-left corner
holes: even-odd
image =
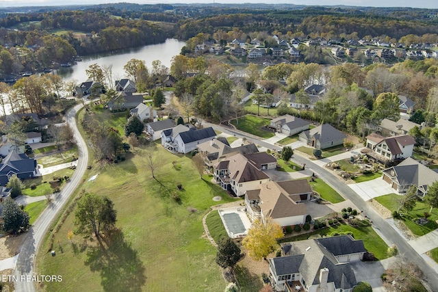
[[[366,252],[350,235],[294,241],[281,249],[282,256],[268,259],[276,291],[351,292],[358,283],[350,262]]]

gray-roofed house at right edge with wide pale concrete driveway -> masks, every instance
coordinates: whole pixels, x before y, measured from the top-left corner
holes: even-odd
[[[398,165],[383,170],[382,178],[400,194],[406,193],[409,187],[415,185],[417,196],[424,198],[428,186],[438,181],[438,173],[408,157]]]

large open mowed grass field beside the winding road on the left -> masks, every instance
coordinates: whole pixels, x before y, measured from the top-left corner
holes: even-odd
[[[123,237],[106,256],[92,249],[96,243],[83,249],[79,235],[73,243],[67,239],[68,231],[75,229],[70,213],[55,235],[56,256],[48,252],[48,240],[38,254],[38,273],[63,278],[44,284],[43,291],[223,291],[227,283],[215,262],[216,248],[203,237],[202,217],[211,205],[235,199],[211,183],[211,176],[201,180],[188,157],[172,155],[161,146],[157,157],[158,181],[146,168],[146,150],[140,148],[126,161],[92,169],[90,175],[99,176],[94,183],[86,178],[81,188],[114,202]],[[180,204],[172,199],[174,192]],[[214,202],[214,196],[222,200]]]

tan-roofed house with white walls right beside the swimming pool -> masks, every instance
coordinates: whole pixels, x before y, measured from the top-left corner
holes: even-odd
[[[306,178],[296,181],[268,181],[245,193],[246,213],[250,220],[271,218],[281,227],[305,224],[311,187]]]

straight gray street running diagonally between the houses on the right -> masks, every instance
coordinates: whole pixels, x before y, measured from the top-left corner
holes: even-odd
[[[236,137],[246,137],[247,140],[251,140],[255,144],[259,144],[268,149],[281,149],[281,147],[279,146],[272,145],[263,140],[260,140],[260,137],[250,135],[239,130],[235,130],[229,127],[222,127],[222,125],[209,124],[207,122],[204,122],[203,124],[207,127],[211,126],[218,131],[235,135]],[[365,202],[361,198],[361,196],[356,194],[355,191],[348,187],[348,185],[346,185],[343,181],[340,181],[335,174],[314,163],[314,161],[311,161],[297,154],[292,157],[292,161],[298,163],[298,165],[305,164],[307,170],[312,170],[312,172],[318,174],[318,176],[323,178],[324,181],[328,183],[331,187],[333,187],[333,189],[335,189],[339,194],[342,194],[344,198],[350,200],[358,207],[358,209],[363,211],[364,214],[367,215],[370,220],[372,220],[373,227],[378,235],[380,235],[388,245],[396,244],[401,256],[404,256],[405,258],[407,258],[408,261],[417,264],[420,269],[422,269],[424,273],[424,280],[429,284],[430,289],[432,291],[438,291],[437,271],[435,271],[433,267],[428,265],[424,258],[414,248],[411,247],[406,239],[404,239],[402,235],[400,235],[387,221],[385,221],[385,219],[383,219],[381,215],[376,213],[376,211],[374,211],[370,204]]]

